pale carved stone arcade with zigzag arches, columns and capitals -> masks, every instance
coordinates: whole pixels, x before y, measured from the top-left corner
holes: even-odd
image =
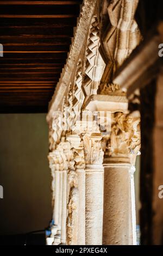
[[[140,105],[142,75],[156,62],[140,57],[148,44],[132,54],[142,44],[138,2],[83,2],[47,114],[54,220],[47,244],[136,245],[140,108],[129,106]]]

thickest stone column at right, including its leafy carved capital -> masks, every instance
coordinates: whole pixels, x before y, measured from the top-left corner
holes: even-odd
[[[112,114],[111,133],[103,138],[104,245],[136,245],[133,156],[140,146],[140,119]]]

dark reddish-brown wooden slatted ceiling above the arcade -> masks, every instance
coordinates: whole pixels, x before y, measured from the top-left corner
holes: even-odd
[[[0,1],[0,112],[47,112],[81,1]]]

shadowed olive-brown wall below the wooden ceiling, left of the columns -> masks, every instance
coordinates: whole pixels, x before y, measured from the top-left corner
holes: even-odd
[[[51,220],[46,114],[0,114],[0,235],[44,229]]]

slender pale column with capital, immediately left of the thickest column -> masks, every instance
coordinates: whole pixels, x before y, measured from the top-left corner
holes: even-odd
[[[101,133],[95,121],[77,121],[85,155],[85,244],[102,245],[103,151]]]

